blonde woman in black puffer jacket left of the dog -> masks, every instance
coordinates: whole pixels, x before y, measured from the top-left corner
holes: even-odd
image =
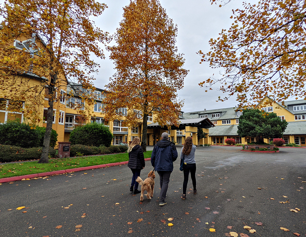
[[[144,162],[144,152],[141,146],[139,145],[139,143],[140,139],[138,137],[135,137],[128,149],[129,153],[128,167],[132,170],[133,173],[130,191],[134,192],[134,194],[140,193],[140,191],[138,190],[139,183],[136,182],[135,180],[137,179],[138,176],[140,176],[140,171],[146,165]]]

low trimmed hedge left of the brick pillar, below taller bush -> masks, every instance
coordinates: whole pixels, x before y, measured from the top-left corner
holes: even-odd
[[[0,145],[0,162],[13,162],[19,160],[38,160],[42,147],[22,148],[19,146]],[[50,147],[49,156],[55,157],[54,148]]]

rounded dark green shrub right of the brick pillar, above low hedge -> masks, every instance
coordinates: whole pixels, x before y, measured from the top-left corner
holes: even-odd
[[[88,123],[84,126],[78,126],[70,133],[69,141],[71,145],[82,144],[86,146],[100,145],[110,146],[113,140],[113,134],[109,128],[99,123]]]

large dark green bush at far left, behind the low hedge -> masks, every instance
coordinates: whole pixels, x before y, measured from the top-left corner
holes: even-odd
[[[7,121],[4,124],[0,124],[0,144],[23,148],[40,147],[43,146],[45,132],[45,127],[31,129],[28,124],[20,123],[19,119]],[[53,148],[56,145],[57,136],[56,131],[52,129],[50,146]]]

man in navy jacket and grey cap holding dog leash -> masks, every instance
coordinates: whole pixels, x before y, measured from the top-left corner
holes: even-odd
[[[159,174],[160,194],[159,205],[167,204],[165,201],[168,183],[171,172],[173,171],[173,162],[177,159],[177,150],[173,142],[168,141],[168,134],[162,133],[162,140],[158,141],[153,148],[151,155],[151,164]]]

